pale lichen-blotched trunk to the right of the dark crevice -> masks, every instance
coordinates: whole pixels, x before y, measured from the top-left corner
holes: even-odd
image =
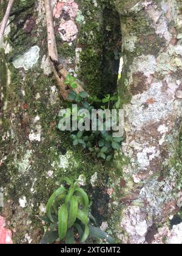
[[[157,226],[181,207],[181,2],[115,2],[123,35],[119,93],[126,113],[126,139],[116,157],[124,179],[118,237],[151,243]]]

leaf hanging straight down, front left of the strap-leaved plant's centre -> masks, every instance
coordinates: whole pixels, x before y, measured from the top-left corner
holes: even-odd
[[[58,212],[58,233],[59,233],[60,240],[63,240],[67,233],[67,218],[68,218],[67,205],[62,204]]]

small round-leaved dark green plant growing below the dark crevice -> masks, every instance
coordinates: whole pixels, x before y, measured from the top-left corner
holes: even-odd
[[[65,84],[69,85],[69,87],[75,88],[75,78],[70,74],[67,76]],[[77,104],[77,107],[74,109],[67,108],[67,112],[64,116],[59,116],[60,121],[62,118],[72,118],[74,121],[81,121],[81,119],[87,118],[89,120],[89,127],[92,127],[93,119],[90,118],[92,116],[92,110],[95,108],[102,108],[103,110],[109,110],[113,104],[118,101],[118,96],[107,94],[103,99],[99,99],[97,96],[89,96],[86,91],[83,91],[79,94],[76,94],[75,91],[71,90],[69,94],[69,99],[73,103]],[[75,115],[76,113],[76,115]],[[88,115],[89,113],[89,115]],[[110,161],[113,157],[114,150],[120,149],[122,137],[113,137],[112,130],[107,130],[107,116],[105,115],[103,118],[103,130],[99,129],[101,123],[99,118],[96,119],[96,129],[86,129],[79,130],[74,124],[70,127],[71,138],[73,141],[73,146],[77,146],[80,144],[84,149],[87,149],[90,153],[95,155],[98,158],[103,158],[106,161]],[[58,129],[62,130],[57,125]]]

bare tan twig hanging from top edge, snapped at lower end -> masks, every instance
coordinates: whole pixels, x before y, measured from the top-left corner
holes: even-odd
[[[47,46],[50,57],[50,62],[52,63],[53,73],[58,82],[59,90],[62,98],[68,99],[70,88],[64,84],[64,79],[67,77],[67,70],[59,63],[58,50],[56,46],[55,30],[53,26],[53,16],[52,16],[52,6],[50,0],[44,0],[45,2],[45,16],[47,22]],[[75,93],[80,93],[84,91],[81,85],[77,84],[77,88],[73,89]]]

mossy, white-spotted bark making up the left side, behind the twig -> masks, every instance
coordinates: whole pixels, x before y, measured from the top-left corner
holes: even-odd
[[[60,98],[46,62],[43,2],[16,1],[1,51],[0,189],[4,207],[0,211],[10,221],[14,243],[39,243],[44,230],[38,216],[44,215],[50,194],[65,176],[77,179],[83,175],[90,201],[94,201],[92,213],[98,224],[108,216],[107,180],[112,163],[105,165],[81,147],[75,150],[69,133],[58,132],[55,128],[58,112],[61,107],[67,107],[67,102]],[[113,21],[116,11],[109,1],[98,1],[97,6],[92,1],[77,2],[80,12],[75,24],[79,34],[75,41],[61,39],[59,19],[55,18],[60,61],[67,69],[77,67],[75,73],[90,93],[99,96],[116,91],[114,50],[117,47],[120,51],[116,43],[121,37],[118,16],[116,23]],[[2,16],[5,4],[0,10]],[[67,20],[66,15],[63,18]],[[15,68],[15,60],[22,58],[32,46],[39,48],[36,63],[25,70],[26,64],[19,62]],[[79,58],[76,57],[78,48]],[[26,61],[29,62],[29,58]],[[92,187],[90,180],[96,172],[96,187]]]

